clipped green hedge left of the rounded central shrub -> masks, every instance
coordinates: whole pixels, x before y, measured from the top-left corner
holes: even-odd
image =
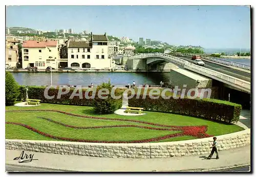
[[[53,99],[47,99],[44,95],[46,87],[38,87],[38,86],[29,86],[28,87],[28,96],[29,99],[40,99],[41,103],[51,103],[51,104],[62,104],[62,105],[79,105],[79,106],[94,106],[95,99],[87,99],[84,94],[87,89],[82,89],[83,99],[80,99],[79,96],[74,96],[73,99],[70,99],[71,94],[74,91],[74,88],[70,88],[69,93],[61,95],[60,99],[57,99],[58,88],[50,88],[48,91],[49,96],[54,96]],[[65,88],[62,88],[63,91]],[[116,90],[118,91],[118,89]],[[89,92],[89,96],[92,95],[92,92]],[[95,98],[97,98],[98,92],[96,91]]]

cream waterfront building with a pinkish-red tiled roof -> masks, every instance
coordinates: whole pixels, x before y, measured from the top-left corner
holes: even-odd
[[[24,41],[22,46],[22,68],[28,66],[46,69],[58,68],[58,41]]]

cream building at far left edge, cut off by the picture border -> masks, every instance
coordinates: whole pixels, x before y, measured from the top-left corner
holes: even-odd
[[[5,64],[9,67],[16,67],[18,62],[18,47],[16,45],[5,47]]]

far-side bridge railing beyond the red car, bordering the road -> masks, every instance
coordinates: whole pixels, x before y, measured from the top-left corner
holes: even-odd
[[[238,67],[238,68],[251,70],[250,65],[239,63],[239,62],[228,61],[228,60],[225,60],[225,59],[220,59],[220,58],[211,57],[211,56],[202,55],[202,54],[186,54],[186,55],[190,56],[190,57],[192,57],[193,55],[199,55],[201,58],[206,59],[206,60],[211,60],[211,61],[221,63],[221,64],[225,64],[225,65],[228,65],[228,66],[234,66],[234,67]]]

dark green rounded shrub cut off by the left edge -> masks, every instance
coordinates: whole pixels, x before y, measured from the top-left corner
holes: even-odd
[[[5,105],[14,105],[18,95],[19,86],[10,72],[5,72]]]

